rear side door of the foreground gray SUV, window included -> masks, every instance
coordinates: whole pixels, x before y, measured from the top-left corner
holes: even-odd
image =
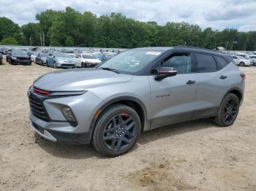
[[[197,73],[194,118],[211,117],[217,114],[229,85],[228,62],[217,55],[195,53]]]

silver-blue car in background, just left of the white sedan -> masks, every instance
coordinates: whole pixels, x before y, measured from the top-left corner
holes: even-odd
[[[75,55],[64,52],[49,53],[46,66],[53,68],[75,68]]]

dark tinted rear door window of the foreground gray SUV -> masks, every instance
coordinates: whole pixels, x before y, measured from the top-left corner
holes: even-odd
[[[212,72],[217,71],[217,64],[211,55],[201,55],[197,56],[197,72]]]

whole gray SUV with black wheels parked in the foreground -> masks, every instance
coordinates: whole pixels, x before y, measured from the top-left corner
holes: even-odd
[[[127,50],[92,69],[53,71],[29,88],[31,127],[50,141],[92,143],[115,157],[141,131],[211,117],[232,125],[245,74],[233,59],[195,47]]]

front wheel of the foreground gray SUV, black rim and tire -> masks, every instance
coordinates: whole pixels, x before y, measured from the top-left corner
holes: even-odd
[[[99,116],[92,144],[102,155],[124,155],[138,141],[140,129],[140,117],[137,112],[129,106],[115,104]]]

